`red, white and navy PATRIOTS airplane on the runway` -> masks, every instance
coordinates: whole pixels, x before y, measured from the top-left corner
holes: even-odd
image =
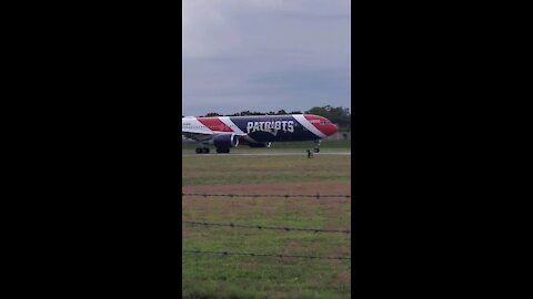
[[[209,154],[209,145],[219,154],[229,154],[239,144],[270,147],[273,142],[303,141],[314,142],[314,153],[319,153],[321,141],[338,131],[328,118],[312,114],[181,118],[182,138],[200,144],[197,154]]]

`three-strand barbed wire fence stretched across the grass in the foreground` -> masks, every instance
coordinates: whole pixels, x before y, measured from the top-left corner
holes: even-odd
[[[207,193],[182,193],[181,197],[202,197],[202,198],[349,198],[351,195],[279,195],[279,194],[207,194]],[[304,231],[304,233],[314,233],[314,234],[344,234],[351,235],[350,229],[320,229],[320,228],[300,228],[300,227],[288,227],[288,226],[263,226],[263,225],[251,225],[251,224],[233,224],[233,223],[209,223],[209,221],[192,221],[187,220],[182,221],[182,225],[199,226],[199,227],[229,227],[229,228],[243,228],[243,229],[258,229],[258,230],[276,230],[276,231]],[[220,257],[229,256],[248,256],[248,257],[271,257],[271,258],[293,258],[293,259],[315,259],[315,260],[351,260],[351,257],[329,257],[329,256],[310,256],[310,255],[285,255],[285,254],[266,254],[266,252],[238,252],[238,251],[212,251],[212,250],[199,250],[199,249],[182,249],[182,254],[191,255],[211,255]]]

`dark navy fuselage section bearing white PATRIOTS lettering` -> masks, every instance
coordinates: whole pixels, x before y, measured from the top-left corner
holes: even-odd
[[[232,116],[231,121],[257,142],[314,141],[319,137],[309,132],[293,116]]]

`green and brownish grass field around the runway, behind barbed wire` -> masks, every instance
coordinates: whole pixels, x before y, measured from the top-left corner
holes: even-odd
[[[325,143],[324,143],[325,144]],[[293,146],[293,145],[288,145]],[[348,146],[332,147],[332,151]],[[194,148],[192,146],[191,148]],[[191,148],[184,148],[189,153]],[[294,146],[294,151],[305,147]],[[324,151],[328,148],[322,147]],[[286,147],[282,148],[286,152]],[[275,152],[273,148],[241,150]],[[237,151],[235,151],[237,152]],[[350,194],[351,156],[183,155],[184,193]],[[182,198],[184,221],[350,229],[350,199]],[[350,257],[350,234],[182,225],[182,249]],[[350,260],[182,252],[183,298],[350,298]]]

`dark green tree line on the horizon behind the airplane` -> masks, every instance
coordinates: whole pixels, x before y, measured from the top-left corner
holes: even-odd
[[[325,118],[330,120],[332,123],[336,124],[341,131],[349,131],[352,126],[352,114],[350,109],[346,107],[333,107],[331,105],[325,106],[315,106],[305,112],[301,111],[291,111],[286,112],[284,110],[280,110],[278,112],[251,112],[251,111],[242,111],[238,113],[233,113],[231,115],[222,115],[215,112],[211,112],[205,114],[203,117],[215,117],[215,116],[250,116],[250,115],[286,115],[286,114],[314,114],[324,116]],[[184,117],[182,115],[182,117]]]

